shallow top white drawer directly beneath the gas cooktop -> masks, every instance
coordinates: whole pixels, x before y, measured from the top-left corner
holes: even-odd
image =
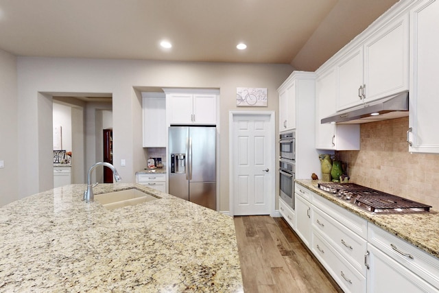
[[[313,205],[324,211],[324,213],[327,213],[327,215],[330,215],[337,220],[337,222],[340,222],[340,224],[346,226],[360,237],[367,239],[368,221],[366,219],[360,218],[358,215],[347,211],[317,194],[314,194],[313,196]]]

